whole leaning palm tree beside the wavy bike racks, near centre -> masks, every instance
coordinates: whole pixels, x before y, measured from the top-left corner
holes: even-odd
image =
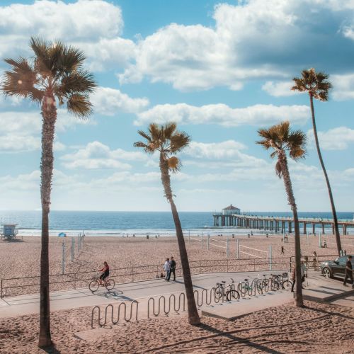
[[[178,248],[181,256],[185,294],[187,295],[188,302],[188,321],[190,324],[197,325],[200,324],[200,318],[195,305],[188,254],[185,249],[181,221],[178,216],[176,205],[173,201],[170,179],[170,171],[177,172],[181,168],[181,161],[174,155],[188,146],[190,143],[190,136],[185,132],[179,132],[176,129],[177,126],[175,123],[168,123],[161,126],[150,124],[149,132],[143,132],[142,130],[138,131],[139,135],[146,139],[146,142],[135,142],[134,146],[142,147],[144,151],[149,154],[153,154],[154,152],[159,152],[160,154],[159,166],[161,171],[161,181],[164,186],[165,197],[171,205],[173,222],[176,227]]]

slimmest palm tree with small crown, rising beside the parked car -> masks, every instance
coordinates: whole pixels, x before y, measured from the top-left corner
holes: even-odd
[[[326,167],[324,166],[324,160],[322,159],[321,149],[319,148],[319,138],[317,137],[316,120],[314,118],[314,98],[319,101],[328,101],[329,90],[332,84],[329,82],[329,75],[323,72],[316,72],[314,68],[308,70],[302,70],[301,78],[295,77],[293,80],[295,85],[292,86],[293,91],[308,92],[311,105],[312,114],[312,127],[314,128],[314,141],[316,142],[317,154],[319,155],[319,162],[324,171],[324,178],[326,179],[327,189],[329,191],[329,200],[331,202],[334,233],[336,234],[336,243],[338,254],[341,253],[341,236],[338,228],[338,218],[336,213],[336,207],[334,206],[333,195],[331,190],[331,184],[329,183],[329,176],[327,175]]]

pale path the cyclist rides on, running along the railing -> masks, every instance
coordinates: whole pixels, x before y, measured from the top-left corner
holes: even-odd
[[[272,272],[261,272],[262,274],[270,274]],[[273,271],[273,273],[278,273]],[[231,282],[238,283],[245,278],[257,278],[258,272],[247,273],[207,273],[193,275],[193,287],[195,290],[210,289],[215,286],[216,282],[226,280],[226,284]],[[113,290],[108,292],[102,287],[93,294],[89,288],[81,288],[76,290],[64,290],[50,292],[50,309],[51,311],[63,309],[76,309],[79,307],[96,306],[103,304],[112,304],[122,301],[147,299],[148,297],[156,297],[159,295],[179,294],[183,292],[183,278],[177,277],[176,281],[167,282],[164,278],[146,280],[142,282],[131,282],[118,284]],[[25,314],[39,313],[39,294],[21,295],[16,297],[4,297],[0,300],[0,318],[11,316],[22,316]]]

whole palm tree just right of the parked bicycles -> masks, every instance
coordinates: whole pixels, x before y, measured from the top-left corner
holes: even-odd
[[[287,167],[287,152],[291,159],[297,161],[304,158],[306,135],[301,130],[290,130],[290,123],[285,121],[278,125],[273,125],[269,129],[258,130],[258,135],[263,139],[257,144],[261,144],[266,150],[273,149],[270,154],[273,159],[278,158],[275,164],[275,173],[282,178],[287,193],[287,201],[292,209],[295,227],[295,305],[303,306],[302,302],[302,282],[301,282],[301,254],[300,254],[300,230],[299,218],[297,217],[297,205],[294,193],[292,191],[292,183],[290,179],[289,169]]]

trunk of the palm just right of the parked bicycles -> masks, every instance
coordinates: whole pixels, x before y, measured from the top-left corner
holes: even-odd
[[[294,229],[295,229],[295,305],[297,307],[304,306],[302,300],[302,281],[301,281],[301,245],[300,245],[300,229],[299,218],[297,217],[297,206],[295,202],[294,193],[292,191],[292,183],[290,179],[289,169],[287,168],[287,157],[284,151],[279,152],[279,163],[282,167],[282,179],[284,181],[285,190],[287,193],[287,201],[292,209],[292,215],[294,217]]]

